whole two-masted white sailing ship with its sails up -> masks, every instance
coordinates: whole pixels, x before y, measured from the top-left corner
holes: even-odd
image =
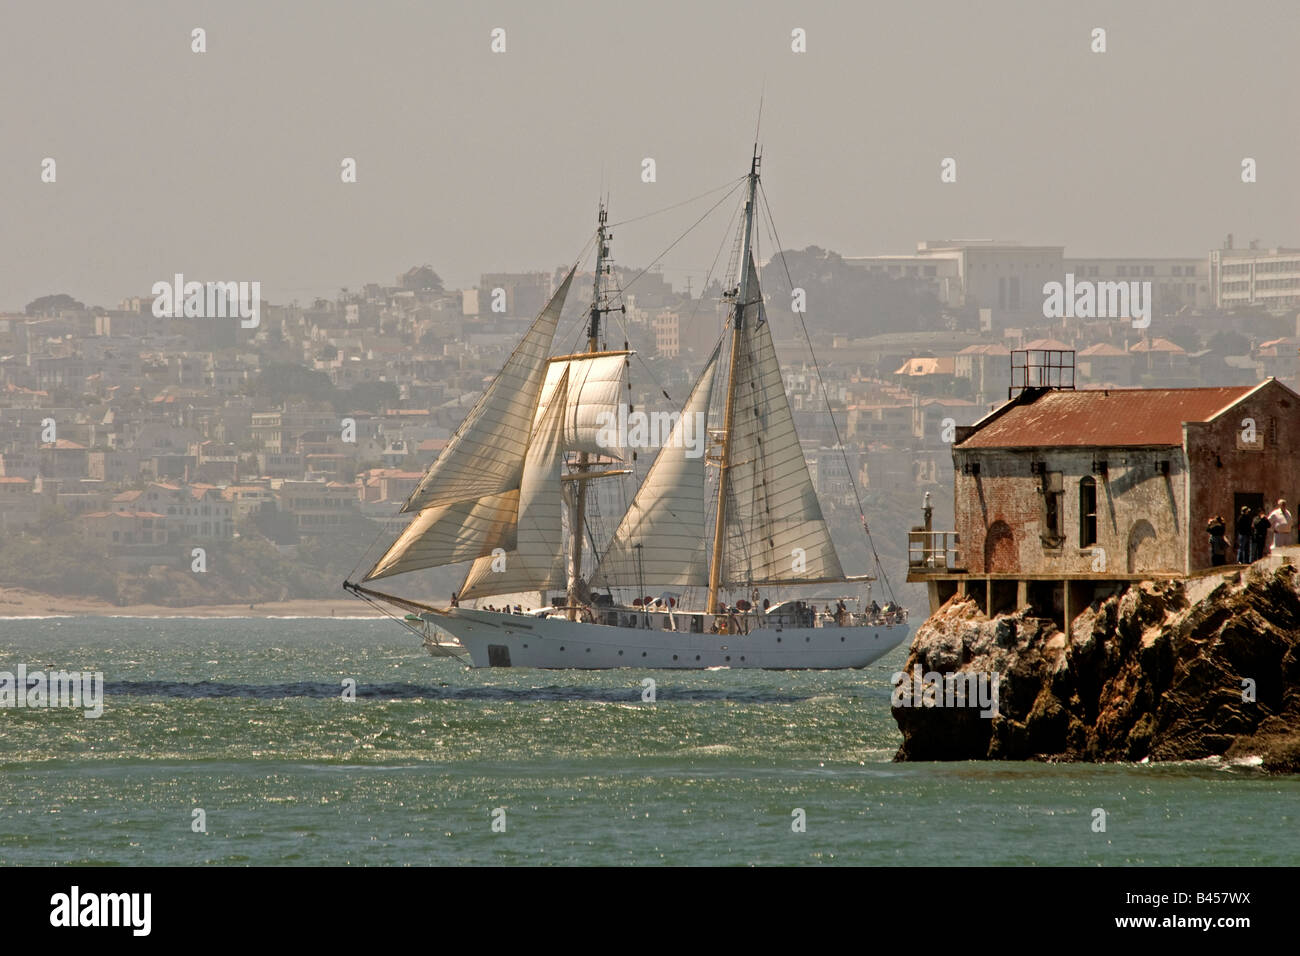
[[[608,429],[630,411],[632,352],[602,345],[602,319],[623,308],[608,294],[602,203],[586,350],[550,356],[575,264],[403,505],[413,518],[348,592],[407,611],[430,653],[459,644],[477,667],[864,667],[906,637],[892,600],[818,610],[779,597],[870,591],[876,578],[844,572],[796,433],[754,264],[759,166],[755,146],[725,328],[612,536],[598,541],[586,515],[594,483],[633,472]],[[707,440],[693,441],[710,414]],[[465,562],[445,606],[376,587]]]

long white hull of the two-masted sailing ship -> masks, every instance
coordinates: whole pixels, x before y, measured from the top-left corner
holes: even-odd
[[[866,667],[906,640],[909,631],[902,622],[692,633],[663,630],[666,615],[650,615],[651,627],[616,627],[468,607],[429,617],[455,635],[474,667],[836,670]]]

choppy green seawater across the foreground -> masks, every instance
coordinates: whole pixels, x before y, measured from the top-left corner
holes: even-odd
[[[890,762],[904,657],[471,670],[385,620],[0,620],[0,670],[107,683],[98,719],[0,710],[0,865],[1300,860],[1300,778],[1222,761]]]

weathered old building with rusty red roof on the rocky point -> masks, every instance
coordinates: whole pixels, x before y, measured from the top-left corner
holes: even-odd
[[[1243,506],[1300,498],[1300,395],[1269,378],[1195,389],[1026,388],[953,444],[954,531],[911,536],[931,607],[974,593],[1062,624],[1135,580],[1210,567]],[[1227,559],[1234,559],[1230,544]]]

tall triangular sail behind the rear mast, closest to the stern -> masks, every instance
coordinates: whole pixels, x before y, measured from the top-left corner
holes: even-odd
[[[781,367],[750,259],[750,294],[737,334],[731,438],[728,533],[723,581],[749,585],[842,581],[844,570],[822,516]]]

